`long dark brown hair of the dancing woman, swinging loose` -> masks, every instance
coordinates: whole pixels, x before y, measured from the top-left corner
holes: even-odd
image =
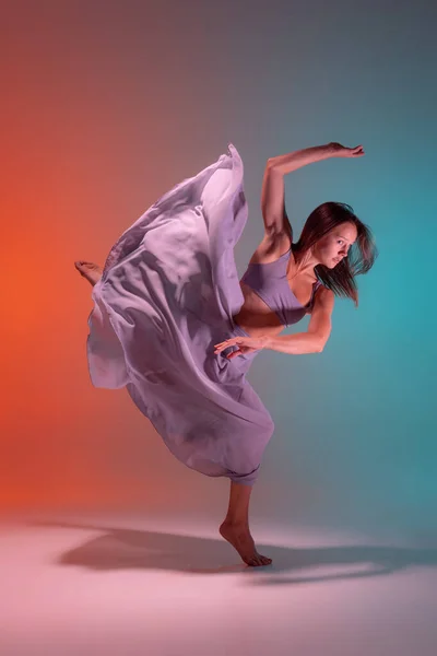
[[[345,221],[353,223],[358,232],[347,257],[333,269],[317,265],[315,273],[334,294],[352,298],[357,307],[358,291],[354,278],[371,269],[378,257],[378,249],[370,229],[356,216],[351,206],[344,202],[323,202],[316,208],[306,220],[299,241],[292,244],[292,251],[298,259],[299,254],[304,254],[329,231]]]

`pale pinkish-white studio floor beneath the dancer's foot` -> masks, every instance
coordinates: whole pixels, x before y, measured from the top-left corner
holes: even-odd
[[[180,516],[3,522],[1,656],[435,656],[437,549],[251,528],[273,565]]]

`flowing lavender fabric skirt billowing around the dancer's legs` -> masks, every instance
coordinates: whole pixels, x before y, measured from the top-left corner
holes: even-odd
[[[126,387],[169,450],[210,477],[251,485],[273,420],[246,380],[234,247],[248,208],[238,151],[176,185],[117,241],[94,285],[86,342],[95,387]]]

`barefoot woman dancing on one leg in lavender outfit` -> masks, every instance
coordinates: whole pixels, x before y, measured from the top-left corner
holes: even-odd
[[[229,478],[220,532],[251,566],[272,562],[255,547],[249,500],[274,423],[246,374],[261,350],[321,352],[334,296],[357,306],[354,278],[377,257],[370,230],[339,202],[316,208],[293,243],[284,176],[328,157],[363,155],[361,145],[329,143],[268,161],[264,237],[241,280],[234,247],[248,209],[233,144],[149,208],[103,268],[75,262],[93,285],[86,342],[93,385],[126,386],[175,457]],[[280,335],[306,314],[307,331]]]

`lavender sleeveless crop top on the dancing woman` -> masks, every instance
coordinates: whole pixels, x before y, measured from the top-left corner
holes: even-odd
[[[284,326],[297,324],[310,312],[314,297],[321,282],[317,280],[312,285],[312,293],[307,305],[302,305],[292,290],[286,278],[286,267],[288,262],[288,248],[284,255],[274,262],[250,263],[241,282],[246,283],[267,305],[274,312]]]

